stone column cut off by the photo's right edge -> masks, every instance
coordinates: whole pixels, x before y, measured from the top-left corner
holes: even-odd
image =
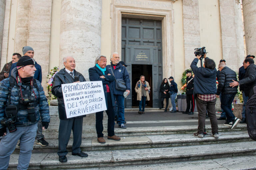
[[[247,55],[256,55],[256,1],[243,0],[244,32]]]

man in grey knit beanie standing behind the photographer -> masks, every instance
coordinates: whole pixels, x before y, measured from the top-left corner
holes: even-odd
[[[22,53],[24,54],[24,56],[26,55],[26,56],[29,56],[30,58],[34,58],[34,49],[31,46],[24,46],[22,48]],[[9,77],[11,75],[11,70],[16,66],[17,66],[17,62],[12,64],[12,66],[10,68]],[[35,67],[36,67],[36,71],[35,71],[34,79],[37,79],[38,81],[40,81],[40,83],[42,83],[42,69],[41,69],[41,66],[37,62],[35,62]],[[37,139],[36,144],[39,144],[39,145],[42,145],[42,146],[48,146],[49,143],[44,140],[41,120],[39,120],[37,126],[38,126],[38,129],[37,129],[37,132],[36,132],[36,139]]]

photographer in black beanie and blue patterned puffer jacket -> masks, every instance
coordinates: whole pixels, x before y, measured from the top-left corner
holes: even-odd
[[[35,71],[34,59],[23,56],[11,77],[0,82],[0,169],[8,168],[19,139],[17,169],[28,169],[40,115],[42,128],[48,128],[49,105],[41,83],[34,79]]]

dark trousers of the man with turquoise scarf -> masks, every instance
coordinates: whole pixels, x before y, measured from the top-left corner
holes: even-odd
[[[115,126],[115,111],[114,111],[114,107],[112,106],[112,100],[111,100],[111,96],[110,93],[107,93],[107,99],[108,99],[108,109],[106,110],[106,113],[108,115],[108,136],[113,136],[115,135],[115,131],[114,131],[114,126]],[[96,116],[96,131],[97,131],[97,136],[98,137],[103,137],[103,124],[102,124],[102,120],[103,120],[103,112],[97,112],[95,114]]]

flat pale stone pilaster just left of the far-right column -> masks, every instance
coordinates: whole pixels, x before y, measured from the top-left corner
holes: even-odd
[[[219,5],[223,59],[228,67],[238,71],[245,55],[241,4],[234,0],[219,0]]]

